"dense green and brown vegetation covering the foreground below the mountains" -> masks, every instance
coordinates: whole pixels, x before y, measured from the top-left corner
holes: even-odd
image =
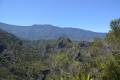
[[[120,80],[120,19],[93,42],[26,41],[0,30],[0,80]]]

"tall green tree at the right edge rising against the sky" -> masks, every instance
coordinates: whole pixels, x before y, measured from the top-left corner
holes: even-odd
[[[114,47],[120,49],[120,18],[110,23],[111,30],[107,34],[107,41]]]

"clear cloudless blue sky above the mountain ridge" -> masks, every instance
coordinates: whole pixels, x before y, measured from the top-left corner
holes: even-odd
[[[120,0],[0,0],[0,22],[52,24],[107,32],[120,17]]]

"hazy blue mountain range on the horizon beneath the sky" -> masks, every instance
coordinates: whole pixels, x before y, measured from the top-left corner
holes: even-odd
[[[61,28],[53,25],[18,26],[0,23],[0,29],[28,40],[52,40],[59,37],[69,37],[76,41],[91,41],[95,37],[104,38],[106,36],[106,33],[92,32],[78,28]]]

